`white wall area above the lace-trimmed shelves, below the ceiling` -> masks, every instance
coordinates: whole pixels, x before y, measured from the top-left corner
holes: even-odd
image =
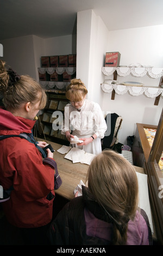
[[[106,51],[121,53],[120,65],[163,67],[163,25],[110,31]]]

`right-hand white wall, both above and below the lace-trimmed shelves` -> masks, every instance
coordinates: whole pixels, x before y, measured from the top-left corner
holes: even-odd
[[[163,25],[110,31],[106,52],[120,52],[120,65],[141,63],[163,68],[162,30]],[[146,80],[149,81],[149,78],[147,77]],[[155,83],[153,79],[151,80]],[[126,78],[126,81],[130,81],[129,78]],[[158,125],[163,99],[160,98],[158,106],[154,106],[154,101],[155,98],[144,95],[131,96],[128,93],[116,94],[115,100],[111,100],[111,93],[103,92],[103,111],[117,113],[123,118],[122,129],[118,133],[121,143],[126,144],[127,136],[135,135],[136,123]]]

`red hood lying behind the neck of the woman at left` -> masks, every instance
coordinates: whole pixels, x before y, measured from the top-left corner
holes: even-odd
[[[0,107],[0,136],[20,135],[20,133],[32,133],[34,120],[23,117],[15,117],[11,112]]]

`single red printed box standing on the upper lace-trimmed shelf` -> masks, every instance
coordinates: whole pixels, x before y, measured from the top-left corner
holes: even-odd
[[[120,52],[106,52],[105,66],[119,66],[120,65]]]

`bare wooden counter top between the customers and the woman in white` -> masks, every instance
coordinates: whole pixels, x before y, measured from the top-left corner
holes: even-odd
[[[41,141],[41,139],[38,139],[38,141]],[[58,172],[62,179],[62,185],[58,190],[55,190],[55,193],[68,200],[71,200],[74,198],[73,191],[79,184],[80,180],[82,180],[85,184],[89,165],[84,163],[72,163],[71,160],[64,158],[66,154],[62,155],[57,152],[62,145],[53,142],[47,143],[51,144],[55,150],[53,158],[57,162]],[[143,173],[143,168],[135,166],[135,170],[136,172]]]

